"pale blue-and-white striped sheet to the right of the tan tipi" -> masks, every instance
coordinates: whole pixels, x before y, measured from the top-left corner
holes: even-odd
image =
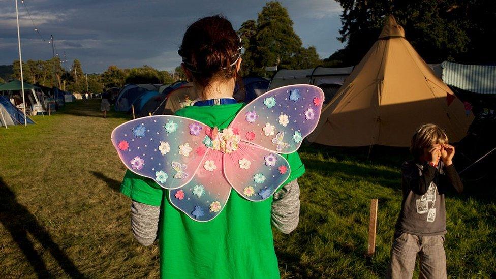
[[[496,94],[496,66],[464,65],[448,61],[441,64],[443,81],[458,88]]]

